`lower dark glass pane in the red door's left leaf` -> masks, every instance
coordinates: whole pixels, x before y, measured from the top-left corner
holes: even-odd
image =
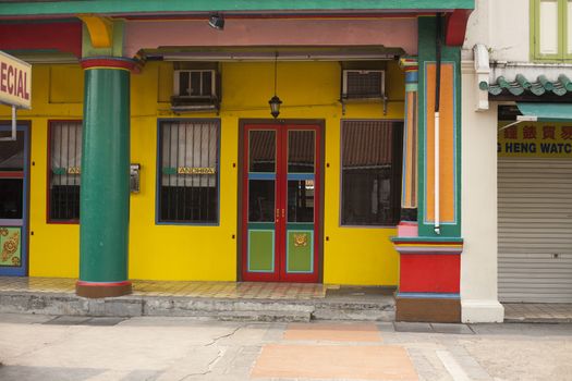
[[[275,181],[248,181],[248,221],[275,222]]]

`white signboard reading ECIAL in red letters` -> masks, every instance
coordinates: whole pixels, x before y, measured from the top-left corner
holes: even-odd
[[[32,65],[0,51],[0,102],[29,109]]]

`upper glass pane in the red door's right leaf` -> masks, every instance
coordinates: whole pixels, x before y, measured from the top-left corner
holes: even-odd
[[[288,132],[288,172],[314,173],[314,131]]]

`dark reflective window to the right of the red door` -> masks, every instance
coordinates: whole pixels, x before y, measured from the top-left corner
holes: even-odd
[[[342,225],[393,225],[401,194],[401,121],[342,122]]]

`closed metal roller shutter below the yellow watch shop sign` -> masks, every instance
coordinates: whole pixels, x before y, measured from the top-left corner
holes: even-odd
[[[501,302],[572,303],[572,160],[498,159]]]

